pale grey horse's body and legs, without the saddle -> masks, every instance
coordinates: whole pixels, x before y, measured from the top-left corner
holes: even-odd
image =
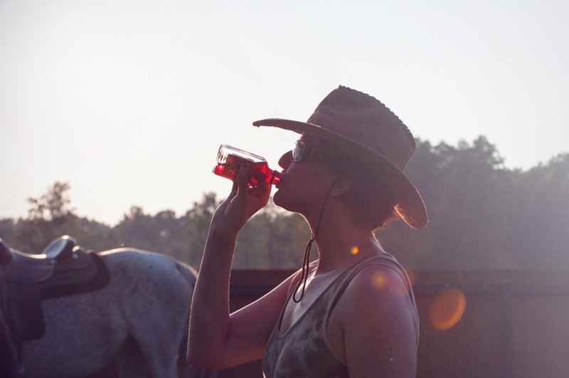
[[[68,248],[58,243],[56,247]],[[50,256],[48,249],[41,259],[52,258],[56,265],[58,257],[54,256],[60,251]],[[4,250],[15,256],[14,250]],[[26,253],[16,258],[0,256],[4,272],[21,255]],[[107,285],[41,300],[45,332],[40,338],[21,342],[22,376],[85,377],[113,361],[119,377],[198,374],[190,372],[193,368],[185,359],[196,271],[149,251],[118,248],[97,255],[108,268]]]

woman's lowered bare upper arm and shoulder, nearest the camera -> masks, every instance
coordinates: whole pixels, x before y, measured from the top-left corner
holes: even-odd
[[[415,310],[398,273],[364,267],[338,305],[350,377],[415,377]]]

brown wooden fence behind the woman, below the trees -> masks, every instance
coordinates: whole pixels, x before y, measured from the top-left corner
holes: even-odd
[[[233,271],[232,310],[292,271]],[[569,271],[410,272],[421,327],[418,378],[569,377]],[[219,377],[262,377],[260,362]]]

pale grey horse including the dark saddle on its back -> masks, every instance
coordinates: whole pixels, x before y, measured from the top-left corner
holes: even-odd
[[[62,236],[34,255],[0,239],[0,268],[21,377],[87,377],[109,364],[120,378],[208,375],[185,359],[191,266],[137,248],[87,252]]]

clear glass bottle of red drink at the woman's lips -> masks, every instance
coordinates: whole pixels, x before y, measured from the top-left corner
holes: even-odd
[[[231,153],[228,153],[226,158],[218,159],[216,167],[213,167],[213,173],[235,180],[242,165],[250,165],[249,185],[252,187],[256,187],[261,182],[277,184],[280,180],[280,172],[270,169],[266,161],[253,162]]]

